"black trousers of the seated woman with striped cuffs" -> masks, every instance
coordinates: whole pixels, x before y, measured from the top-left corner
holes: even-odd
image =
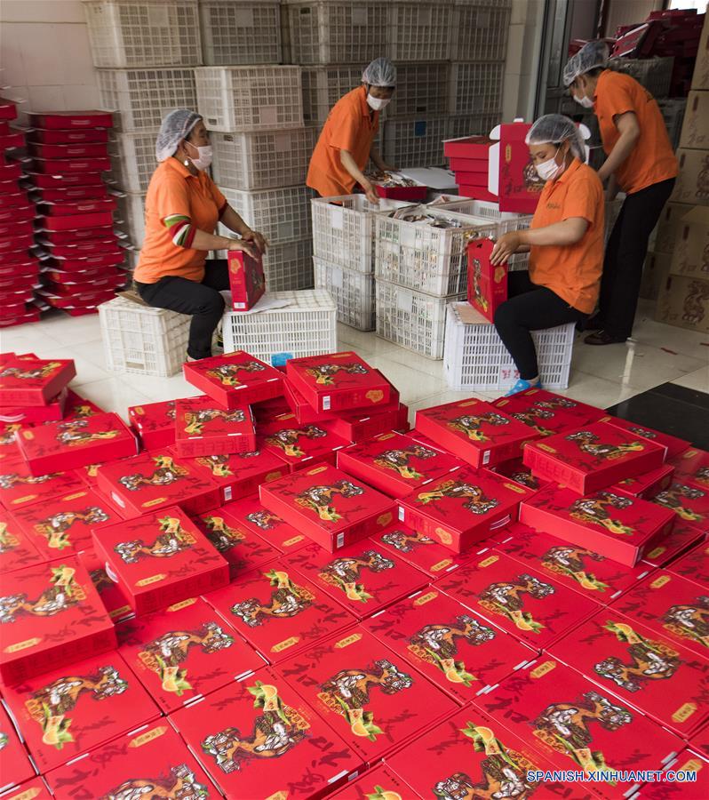
[[[135,285],[140,297],[151,306],[191,314],[187,356],[211,356],[211,336],[224,313],[224,298],[219,292],[229,288],[226,259],[207,260],[201,284],[169,275],[160,278],[156,284],[136,281]]]

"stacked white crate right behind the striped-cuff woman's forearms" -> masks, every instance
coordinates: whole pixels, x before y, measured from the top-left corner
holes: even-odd
[[[271,244],[297,242],[310,237],[312,189],[292,186],[244,192],[223,186],[219,188],[246,224],[266,236]],[[219,230],[223,236],[232,236],[221,223]]]

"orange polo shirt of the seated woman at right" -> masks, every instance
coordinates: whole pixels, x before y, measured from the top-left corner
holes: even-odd
[[[530,280],[546,286],[570,306],[591,314],[603,271],[603,187],[595,170],[574,158],[557,180],[547,180],[531,228],[582,217],[586,233],[576,244],[532,244]]]

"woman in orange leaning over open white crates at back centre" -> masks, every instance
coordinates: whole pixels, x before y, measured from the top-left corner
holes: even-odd
[[[379,170],[395,169],[382,161],[373,144],[379,112],[391,101],[395,84],[394,64],[375,59],[362,72],[362,85],[331,108],[307,171],[307,185],[321,197],[350,195],[359,184],[370,203],[379,202],[376,188],[363,172],[370,158]]]

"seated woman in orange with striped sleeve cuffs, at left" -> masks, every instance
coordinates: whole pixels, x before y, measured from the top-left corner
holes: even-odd
[[[219,292],[229,288],[227,261],[211,250],[265,252],[266,239],[251,230],[214,185],[209,135],[202,117],[187,108],[165,116],[155,142],[160,162],[145,204],[145,241],[133,279],[155,308],[192,315],[187,358],[211,356],[211,337],[224,313]],[[241,236],[214,236],[217,222]]]

